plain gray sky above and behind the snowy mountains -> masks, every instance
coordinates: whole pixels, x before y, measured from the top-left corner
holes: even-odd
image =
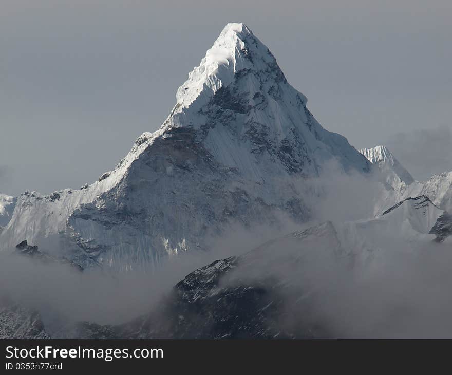
[[[436,143],[451,139],[450,20],[449,0],[0,0],[0,192],[79,188],[113,168],[228,22],[270,48],[325,128],[389,144],[425,178],[438,157],[413,156],[452,148]]]

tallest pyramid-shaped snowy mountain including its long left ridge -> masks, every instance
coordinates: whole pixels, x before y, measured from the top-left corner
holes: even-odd
[[[51,240],[65,249],[58,257],[124,271],[206,249],[233,223],[303,222],[310,212],[294,181],[330,160],[345,172],[370,165],[306,102],[251,30],[228,24],[159,130],[90,185],[22,194],[0,241]]]

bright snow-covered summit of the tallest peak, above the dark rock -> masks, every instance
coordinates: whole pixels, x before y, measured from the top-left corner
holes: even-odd
[[[227,24],[221,31],[199,66],[176,93],[176,105],[163,127],[191,126],[199,128],[203,123],[199,111],[221,88],[228,87],[241,79],[243,91],[240,101],[231,101],[236,109],[246,109],[261,102],[255,97],[262,90],[262,84],[276,87],[278,81],[286,81],[276,59],[251,30],[242,23]],[[298,100],[306,104],[306,97],[296,92]],[[202,110],[201,110],[202,112]]]

